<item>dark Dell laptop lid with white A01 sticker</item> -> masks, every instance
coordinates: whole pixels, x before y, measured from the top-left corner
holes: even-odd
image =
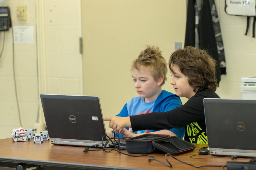
[[[106,134],[97,96],[40,97],[50,138],[101,141]]]

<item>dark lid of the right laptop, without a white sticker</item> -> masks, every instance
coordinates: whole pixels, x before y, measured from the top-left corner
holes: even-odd
[[[256,150],[256,100],[204,99],[209,148]]]

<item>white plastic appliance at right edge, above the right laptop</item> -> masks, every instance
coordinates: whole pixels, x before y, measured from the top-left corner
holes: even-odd
[[[242,99],[256,99],[256,76],[241,78]]]

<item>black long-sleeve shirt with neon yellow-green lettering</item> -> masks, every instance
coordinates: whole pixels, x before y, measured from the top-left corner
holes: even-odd
[[[134,131],[143,129],[170,129],[185,126],[185,140],[207,143],[204,98],[220,98],[214,91],[202,89],[184,105],[167,112],[153,112],[130,116]]]

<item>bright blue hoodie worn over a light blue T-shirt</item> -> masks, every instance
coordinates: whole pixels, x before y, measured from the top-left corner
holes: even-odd
[[[140,97],[134,97],[132,98],[131,101],[129,101],[129,104],[133,104],[134,101],[138,101],[140,99]],[[154,104],[154,108],[153,108],[153,112],[166,112],[169,110],[172,110],[176,107],[179,107],[182,105],[182,102],[180,100],[180,98],[178,96],[176,96],[173,93],[170,93],[166,90],[162,90],[162,92],[158,95],[155,104]],[[121,112],[116,115],[116,116],[121,116],[121,117],[127,117],[130,116],[131,113],[128,113],[127,110],[127,103],[124,105],[123,109],[121,110]],[[126,127],[127,130],[129,130],[128,127]],[[162,129],[163,130],[163,129]],[[171,132],[175,133],[177,137],[179,138],[183,138],[185,135],[185,128],[184,127],[180,127],[180,128],[172,128],[169,129]],[[156,132],[159,130],[150,130],[149,132]],[[133,132],[136,133],[136,132]],[[122,137],[122,134],[119,134],[120,137]]]

